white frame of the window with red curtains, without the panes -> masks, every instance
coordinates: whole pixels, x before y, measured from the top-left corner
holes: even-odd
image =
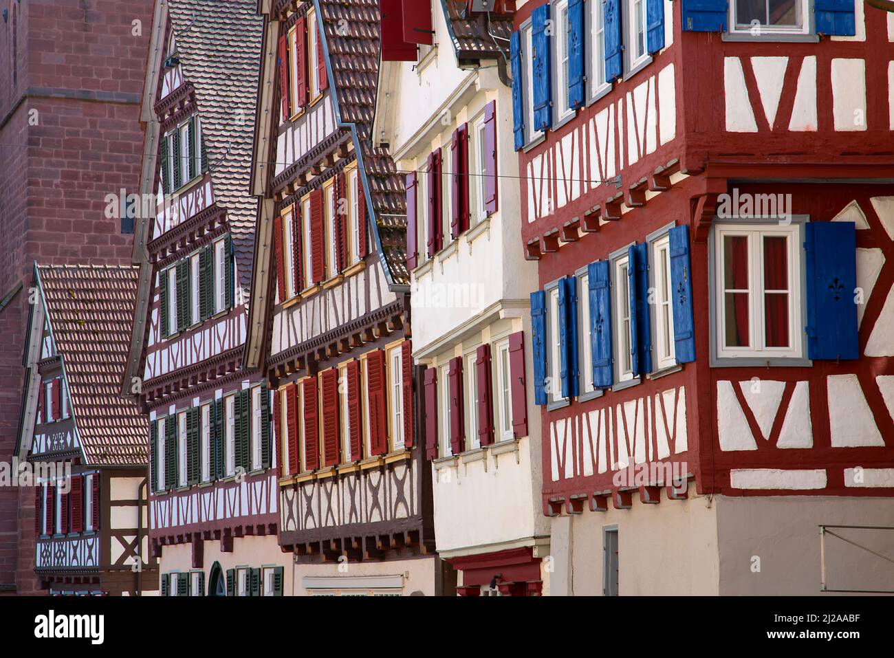
[[[748,239],[748,331],[749,347],[727,347],[725,345],[726,305],[724,304],[723,282],[723,239],[727,236],[745,235]],[[764,328],[764,287],[763,287],[763,244],[756,249],[764,236],[786,236],[788,239],[789,266],[789,348],[767,347]],[[805,359],[803,308],[804,281],[803,224],[765,221],[747,224],[718,223],[713,227],[713,347],[716,359]]]

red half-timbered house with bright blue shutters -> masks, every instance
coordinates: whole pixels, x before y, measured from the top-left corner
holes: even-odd
[[[894,22],[517,4],[552,593],[890,589]]]

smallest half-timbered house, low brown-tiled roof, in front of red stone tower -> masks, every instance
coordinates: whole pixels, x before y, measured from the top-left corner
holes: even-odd
[[[35,573],[52,595],[158,589],[147,423],[118,396],[137,268],[35,266],[15,456],[35,485]]]

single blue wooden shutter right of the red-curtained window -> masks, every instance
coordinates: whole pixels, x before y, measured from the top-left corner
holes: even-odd
[[[857,359],[856,224],[809,223],[807,250],[807,356]]]

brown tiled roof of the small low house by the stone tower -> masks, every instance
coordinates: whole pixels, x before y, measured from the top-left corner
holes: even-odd
[[[131,346],[137,266],[38,266],[84,457],[97,466],[148,463],[148,425],[119,397]]]

